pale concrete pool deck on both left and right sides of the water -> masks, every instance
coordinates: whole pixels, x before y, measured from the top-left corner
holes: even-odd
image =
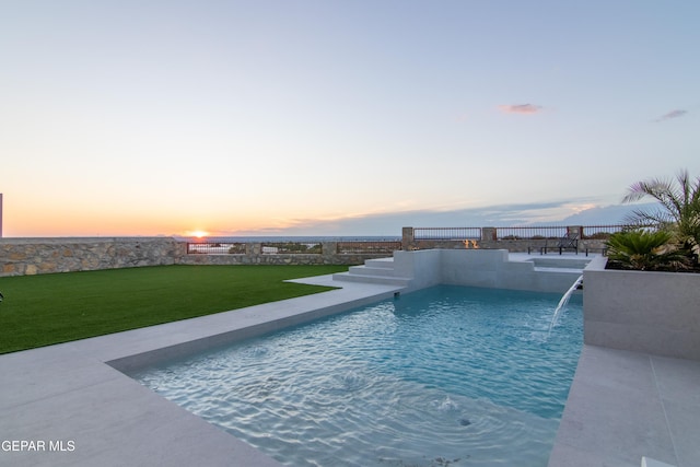
[[[393,296],[342,289],[0,355],[0,465],[279,466],[120,370]],[[137,355],[137,357],[133,357]],[[109,364],[107,364],[109,362]],[[584,346],[549,466],[700,464],[700,362]]]

